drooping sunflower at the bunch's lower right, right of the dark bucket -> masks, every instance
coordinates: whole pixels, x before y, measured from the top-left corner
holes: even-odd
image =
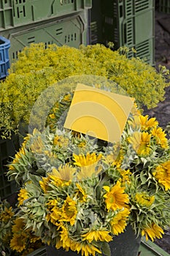
[[[150,227],[145,227],[142,230],[142,236],[145,236],[146,240],[148,240],[150,237],[150,239],[154,241],[155,238],[162,238],[162,234],[164,234],[163,229],[155,223],[150,225]]]

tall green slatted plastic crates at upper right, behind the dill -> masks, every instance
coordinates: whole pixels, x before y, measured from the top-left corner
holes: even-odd
[[[155,1],[109,0],[106,4],[102,2],[102,10],[104,44],[114,42],[115,49],[125,45],[139,50],[144,42],[150,42],[146,50],[150,56],[148,62],[153,64],[154,45],[151,42],[155,37]]]

